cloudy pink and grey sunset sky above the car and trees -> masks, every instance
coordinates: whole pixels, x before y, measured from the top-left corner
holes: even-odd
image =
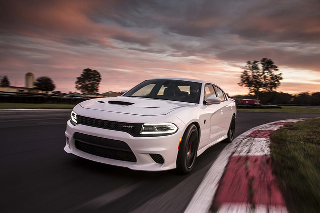
[[[50,77],[76,91],[85,68],[99,93],[148,78],[212,81],[247,94],[239,75],[267,57],[282,72],[278,92],[320,91],[319,0],[2,0],[0,76]]]

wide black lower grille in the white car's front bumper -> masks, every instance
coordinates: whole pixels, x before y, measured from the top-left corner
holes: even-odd
[[[136,162],[130,147],[123,141],[74,133],[75,148],[92,155],[120,161]]]

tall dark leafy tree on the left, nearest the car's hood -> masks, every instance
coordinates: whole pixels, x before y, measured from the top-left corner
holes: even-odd
[[[97,92],[101,75],[98,71],[89,68],[83,69],[83,72],[76,78],[75,88],[83,94],[89,92]]]

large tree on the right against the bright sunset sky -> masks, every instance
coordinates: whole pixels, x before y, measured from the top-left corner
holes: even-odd
[[[259,91],[272,92],[280,85],[282,73],[271,59],[262,58],[260,61],[247,61],[242,67],[240,83],[238,85],[247,87],[250,93],[259,98]]]

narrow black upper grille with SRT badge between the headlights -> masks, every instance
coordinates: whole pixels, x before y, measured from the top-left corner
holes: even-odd
[[[76,116],[77,124],[82,124],[91,127],[98,127],[103,129],[116,130],[121,132],[127,132],[132,136],[139,135],[142,124],[136,123],[124,123],[124,122],[116,122],[116,121],[106,121],[96,118],[84,117],[81,115]]]

